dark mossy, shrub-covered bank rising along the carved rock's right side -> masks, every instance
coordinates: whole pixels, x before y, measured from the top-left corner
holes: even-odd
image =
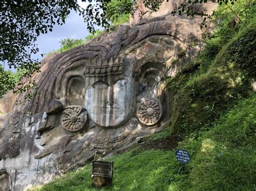
[[[214,125],[252,92],[256,71],[256,5],[241,0],[232,9],[220,6],[213,20],[219,28],[206,39],[204,51],[169,80],[172,133],[194,133]]]

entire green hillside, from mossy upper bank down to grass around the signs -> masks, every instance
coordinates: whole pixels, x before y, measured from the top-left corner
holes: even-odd
[[[251,3],[250,3],[251,2]],[[256,17],[253,1],[236,3],[234,15],[219,8],[219,29],[199,58],[169,81],[171,123],[145,141],[185,133],[179,148],[191,162],[179,172],[174,151],[139,147],[114,155],[113,185],[104,190],[255,190],[256,180]],[[247,26],[247,27],[246,27]],[[91,165],[35,190],[92,190]]]

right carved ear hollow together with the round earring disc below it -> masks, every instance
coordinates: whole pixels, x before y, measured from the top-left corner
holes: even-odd
[[[138,68],[137,81],[139,90],[137,95],[137,118],[146,127],[155,127],[162,119],[163,108],[159,88],[164,75],[162,63],[147,62]]]

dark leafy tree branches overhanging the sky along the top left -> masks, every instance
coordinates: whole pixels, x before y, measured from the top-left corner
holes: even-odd
[[[113,1],[113,0],[112,0]],[[122,3],[118,3],[123,2]],[[234,3],[236,0],[218,0],[219,4]],[[38,60],[31,58],[32,54],[38,52],[36,40],[39,34],[52,31],[53,25],[63,25],[65,19],[68,17],[71,10],[74,10],[82,15],[87,29],[90,32],[94,32],[95,25],[101,25],[103,27],[109,27],[109,20],[111,18],[114,21],[114,14],[120,13],[120,11],[131,11],[133,13],[136,10],[136,0],[115,0],[117,5],[124,5],[122,10],[114,10],[113,6],[107,7],[110,0],[82,0],[89,5],[84,9],[77,0],[3,0],[1,1],[1,35],[0,35],[0,63],[7,64],[9,68],[20,68],[24,71],[23,76],[28,79],[35,72],[39,71]],[[146,8],[152,11],[157,11],[161,5],[161,0],[144,0]],[[196,3],[207,3],[207,0],[194,0],[187,1],[181,5],[179,10],[174,10],[175,13],[181,14],[182,12],[187,15],[196,15],[191,5]],[[112,2],[112,4],[114,4]],[[114,6],[115,7],[115,6]],[[120,6],[117,6],[120,9]],[[109,9],[111,15],[106,15],[106,10]],[[111,10],[112,9],[112,10]],[[204,13],[200,13],[202,16]],[[14,88],[14,81],[9,79],[9,75],[5,75],[4,70],[0,70],[0,79],[4,83],[9,84],[7,89]],[[35,84],[35,82],[29,82]],[[25,91],[30,86],[20,86],[15,92]],[[3,91],[3,90],[2,90]],[[6,92],[6,90],[5,90]]]

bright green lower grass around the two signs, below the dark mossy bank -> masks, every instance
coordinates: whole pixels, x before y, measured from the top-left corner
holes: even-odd
[[[102,190],[253,190],[256,188],[256,95],[221,117],[197,139],[186,137],[179,148],[191,162],[179,172],[174,151],[139,148],[114,155],[112,186]],[[93,190],[91,164],[32,190]]]

